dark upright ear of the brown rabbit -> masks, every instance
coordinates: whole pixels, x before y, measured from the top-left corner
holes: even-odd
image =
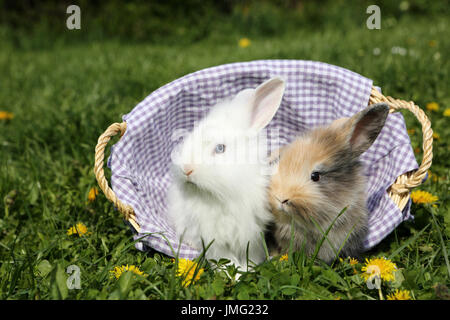
[[[350,128],[348,141],[355,157],[369,149],[383,129],[388,114],[389,106],[386,103],[377,103],[347,121]]]

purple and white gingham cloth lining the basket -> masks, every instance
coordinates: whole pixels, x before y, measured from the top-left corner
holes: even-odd
[[[179,252],[187,259],[199,255],[185,244],[179,246],[166,218],[170,154],[179,141],[177,135],[181,129],[189,132],[221,99],[273,76],[287,81],[282,104],[268,126],[268,131],[278,129],[282,144],[304,130],[365,108],[372,88],[372,80],[326,63],[260,60],[204,69],[154,91],[123,116],[127,130],[108,160],[112,188],[133,207],[141,226],[134,235],[137,249],[151,247],[171,256]],[[402,212],[386,192],[399,175],[418,168],[400,113],[389,115],[361,159],[368,176],[370,218],[364,244],[369,249],[410,218],[410,204]]]

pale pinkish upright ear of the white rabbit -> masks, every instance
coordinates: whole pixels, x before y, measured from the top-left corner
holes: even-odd
[[[263,129],[272,120],[281,104],[285,89],[281,78],[271,78],[259,85],[253,93],[250,128]]]

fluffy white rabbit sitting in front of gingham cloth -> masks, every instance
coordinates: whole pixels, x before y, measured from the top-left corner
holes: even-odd
[[[212,242],[208,259],[227,258],[247,268],[248,246],[248,260],[264,260],[261,233],[272,215],[260,133],[284,88],[282,79],[272,78],[217,104],[172,153],[169,220],[190,246],[201,251]]]

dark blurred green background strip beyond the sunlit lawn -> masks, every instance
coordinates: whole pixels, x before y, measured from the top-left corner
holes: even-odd
[[[72,4],[82,12],[77,32],[68,32],[65,25],[66,8]],[[411,22],[427,17],[431,26],[434,16],[450,13],[446,0],[1,0],[0,19],[3,37],[22,47],[105,39],[187,44],[243,34],[277,37],[293,29],[365,28],[369,5],[381,8],[382,28],[405,17]]]

